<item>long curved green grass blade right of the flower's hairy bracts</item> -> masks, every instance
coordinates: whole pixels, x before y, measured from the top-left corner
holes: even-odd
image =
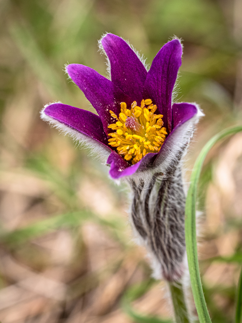
[[[191,175],[191,184],[187,193],[186,202],[186,247],[187,247],[187,260],[190,272],[191,286],[195,305],[197,308],[197,314],[200,323],[209,323],[211,319],[208,314],[207,305],[205,302],[203,288],[201,283],[201,277],[199,273],[198,256],[197,256],[197,241],[196,241],[196,199],[197,199],[197,184],[203,162],[207,156],[209,150],[217,143],[217,141],[224,137],[235,134],[242,131],[242,126],[227,128],[217,135],[212,137],[207,144],[203,147],[199,154]]]

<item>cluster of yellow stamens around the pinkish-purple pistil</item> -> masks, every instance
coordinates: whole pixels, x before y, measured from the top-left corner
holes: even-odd
[[[113,111],[111,116],[117,120],[108,126],[116,132],[108,136],[109,145],[116,147],[119,155],[132,164],[140,161],[148,152],[158,152],[166,139],[166,128],[163,126],[162,114],[155,114],[157,107],[151,99],[141,101],[140,107],[134,101],[131,109],[125,102],[120,104],[119,117]]]

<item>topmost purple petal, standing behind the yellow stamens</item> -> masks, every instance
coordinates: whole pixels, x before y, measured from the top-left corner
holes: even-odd
[[[143,99],[147,71],[136,53],[120,37],[107,34],[102,45],[110,60],[112,82],[138,105]]]

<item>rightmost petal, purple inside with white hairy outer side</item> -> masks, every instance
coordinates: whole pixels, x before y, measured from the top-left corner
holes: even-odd
[[[167,165],[171,164],[176,159],[177,154],[185,149],[196,123],[193,117],[197,113],[197,107],[191,103],[174,103],[172,105],[173,129],[161,146],[154,161],[154,167],[163,165],[162,171],[165,172]]]

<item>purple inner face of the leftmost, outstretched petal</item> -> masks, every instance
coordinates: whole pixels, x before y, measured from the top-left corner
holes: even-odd
[[[108,137],[103,130],[102,121],[96,114],[62,103],[48,105],[44,113],[67,127],[108,145]]]

